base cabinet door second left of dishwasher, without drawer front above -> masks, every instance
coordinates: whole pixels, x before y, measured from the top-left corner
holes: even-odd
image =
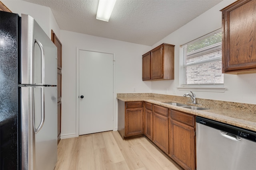
[[[153,113],[153,142],[168,154],[168,117]]]

